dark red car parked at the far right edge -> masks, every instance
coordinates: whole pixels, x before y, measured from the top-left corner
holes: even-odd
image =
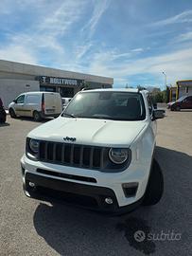
[[[192,96],[183,96],[177,101],[169,102],[167,108],[171,111],[180,111],[181,109],[192,109]]]

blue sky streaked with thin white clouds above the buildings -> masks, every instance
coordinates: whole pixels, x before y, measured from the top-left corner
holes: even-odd
[[[192,79],[191,0],[1,0],[0,59],[109,76]]]

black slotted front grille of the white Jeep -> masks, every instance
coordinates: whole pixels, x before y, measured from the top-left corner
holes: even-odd
[[[103,169],[109,149],[96,146],[40,141],[39,160],[79,168]]]

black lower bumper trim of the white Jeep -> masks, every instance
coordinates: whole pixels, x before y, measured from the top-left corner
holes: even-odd
[[[29,182],[35,187],[29,186]],[[107,213],[125,213],[134,210],[141,204],[141,200],[126,207],[119,207],[113,190],[93,185],[79,184],[42,175],[26,173],[24,190],[30,197],[53,202],[55,200],[80,206],[90,210],[99,210]],[[107,204],[105,198],[113,199],[113,204]]]

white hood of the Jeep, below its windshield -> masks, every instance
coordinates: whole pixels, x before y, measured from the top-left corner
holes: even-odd
[[[130,146],[145,126],[144,121],[60,117],[35,128],[28,137],[59,142],[64,141],[63,137],[76,137],[77,144]]]

